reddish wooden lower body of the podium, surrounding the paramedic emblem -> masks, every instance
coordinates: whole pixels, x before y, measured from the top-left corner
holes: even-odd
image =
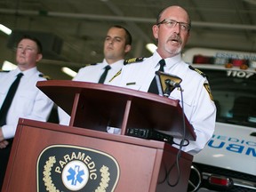
[[[174,163],[177,153],[175,148],[163,142],[21,120],[13,142],[3,191],[36,191],[37,158],[44,148],[52,145],[93,148],[113,156],[120,167],[115,191],[187,190],[189,172],[186,170],[190,170],[192,157],[185,153],[180,157],[179,184],[174,188],[165,181],[157,185],[157,180],[163,180],[166,170]],[[177,172],[172,172],[172,175],[175,180]]]

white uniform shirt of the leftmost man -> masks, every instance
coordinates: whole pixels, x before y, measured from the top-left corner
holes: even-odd
[[[3,105],[11,84],[20,72],[19,68],[10,72],[0,72],[0,106]],[[6,124],[2,127],[4,139],[14,137],[20,117],[45,122],[53,106],[52,100],[36,87],[37,81],[46,80],[39,76],[41,73],[37,68],[30,68],[22,73],[24,76],[20,79],[19,87],[6,117]]]

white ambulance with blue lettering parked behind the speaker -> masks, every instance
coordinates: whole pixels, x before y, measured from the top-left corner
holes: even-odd
[[[208,77],[217,107],[214,134],[194,156],[188,191],[256,191],[256,53],[192,48],[182,57]]]

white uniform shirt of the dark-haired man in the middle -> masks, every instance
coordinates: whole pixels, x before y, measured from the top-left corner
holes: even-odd
[[[77,75],[74,77],[73,81],[82,81],[89,83],[98,83],[100,76],[105,71],[105,67],[108,65],[107,60],[103,60],[101,63],[97,63],[96,65],[86,66],[84,68],[80,68]],[[116,74],[123,68],[124,60],[118,60],[115,63],[112,63],[111,68],[108,70],[108,75],[106,76],[106,80],[104,84],[111,84],[112,78],[116,76]],[[60,119],[60,124],[68,125],[70,116],[62,110],[58,108],[58,114]]]

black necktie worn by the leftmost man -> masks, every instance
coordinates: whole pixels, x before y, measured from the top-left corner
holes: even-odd
[[[9,91],[4,99],[4,103],[0,109],[0,126],[6,124],[6,115],[12,104],[12,99],[17,91],[18,85],[20,84],[20,78],[23,76],[22,73],[18,74],[15,81],[12,83]]]

